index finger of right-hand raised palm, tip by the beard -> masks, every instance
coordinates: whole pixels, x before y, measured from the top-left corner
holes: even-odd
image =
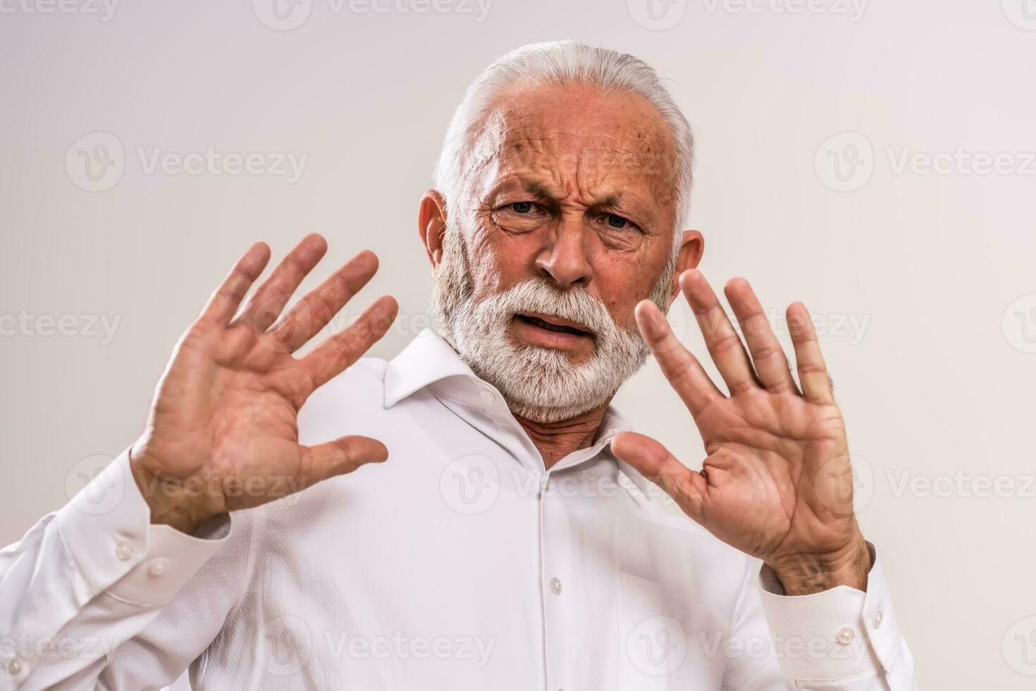
[[[662,374],[692,415],[697,416],[711,402],[723,398],[698,358],[672,333],[658,306],[651,300],[641,300],[634,315],[640,335],[662,368]]]

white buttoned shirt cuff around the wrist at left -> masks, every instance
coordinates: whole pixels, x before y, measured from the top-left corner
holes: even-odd
[[[99,593],[141,606],[161,605],[226,544],[229,516],[196,536],[151,525],[151,511],[122,452],[65,505],[55,518],[58,535],[83,576],[83,601]]]

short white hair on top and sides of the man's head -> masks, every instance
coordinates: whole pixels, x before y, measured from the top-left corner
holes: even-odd
[[[608,91],[638,93],[655,107],[665,122],[677,149],[675,228],[684,229],[691,201],[694,137],[680,108],[662,85],[653,67],[639,58],[574,40],[522,46],[486,67],[471,83],[454,113],[442,151],[435,167],[435,188],[457,207],[461,194],[465,156],[496,97],[516,84],[583,83]]]

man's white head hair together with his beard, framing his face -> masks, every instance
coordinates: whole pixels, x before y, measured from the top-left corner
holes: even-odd
[[[466,156],[506,89],[576,83],[639,94],[658,111],[672,138],[675,161],[665,162],[665,168],[673,184],[674,237],[669,261],[649,296],[665,310],[690,204],[694,139],[658,75],[641,60],[571,40],[525,46],[505,55],[479,75],[458,106],[435,169],[435,186],[448,210],[464,207],[465,171],[470,165]],[[462,215],[448,217],[442,258],[435,270],[430,312],[439,335],[479,377],[497,387],[515,414],[527,420],[571,420],[610,400],[648,355],[632,317],[624,316],[628,323],[621,323],[584,288],[562,290],[545,279],[477,296],[477,275],[494,267],[471,262],[461,232]],[[594,354],[576,365],[560,350],[514,343],[510,324],[516,315],[528,312],[582,324],[594,335]]]

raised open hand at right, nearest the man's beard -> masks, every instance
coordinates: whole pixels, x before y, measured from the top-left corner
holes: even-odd
[[[697,472],[658,441],[631,432],[616,436],[612,451],[714,536],[762,559],[789,595],[839,584],[865,589],[870,555],[844,482],[852,477],[845,427],[805,306],[787,309],[800,392],[746,281],[730,281],[725,293],[748,352],[699,271],[685,271],[680,285],[729,396],[654,304],[638,305],[636,319],[690,410],[708,457]]]

